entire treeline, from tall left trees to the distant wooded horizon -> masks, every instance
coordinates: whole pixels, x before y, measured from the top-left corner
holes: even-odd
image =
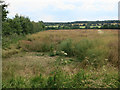
[[[56,29],[119,29],[120,25],[111,25],[111,23],[119,23],[118,20],[111,21],[75,21],[66,23],[43,23],[42,21],[34,22],[29,17],[15,15],[14,18],[7,18],[7,4],[0,0],[2,3],[2,35],[9,36],[12,34],[26,35],[43,30],[56,30]],[[77,25],[83,23],[82,26]],[[104,24],[106,23],[106,24]],[[96,24],[96,25],[92,25]],[[98,24],[98,25],[97,25]],[[101,26],[99,25],[101,24]],[[91,27],[92,26],[92,27]],[[100,27],[98,27],[100,26]],[[82,28],[81,28],[82,27]]]

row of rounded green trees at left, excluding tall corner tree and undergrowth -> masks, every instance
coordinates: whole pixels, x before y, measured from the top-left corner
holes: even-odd
[[[13,19],[7,18],[3,22],[3,35],[12,34],[32,34],[45,30],[45,25],[42,21],[34,22],[30,21],[28,17],[15,15]]]

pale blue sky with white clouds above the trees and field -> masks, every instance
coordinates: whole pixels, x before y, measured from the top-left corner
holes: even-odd
[[[8,17],[28,16],[32,21],[71,22],[118,20],[120,0],[5,0]]]

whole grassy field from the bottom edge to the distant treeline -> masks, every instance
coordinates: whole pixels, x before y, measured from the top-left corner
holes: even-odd
[[[3,50],[4,88],[117,88],[118,30],[49,30]]]

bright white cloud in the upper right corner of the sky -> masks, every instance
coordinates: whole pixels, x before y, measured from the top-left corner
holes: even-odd
[[[117,7],[119,0],[82,0],[81,10],[86,11],[112,11]]]

